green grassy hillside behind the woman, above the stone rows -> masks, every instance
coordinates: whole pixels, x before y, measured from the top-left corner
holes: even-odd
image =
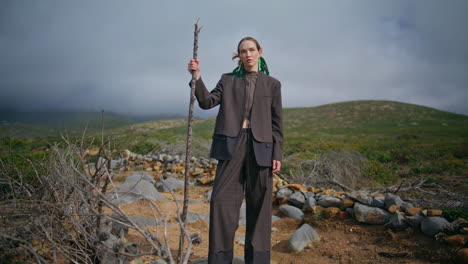
[[[468,190],[468,116],[393,101],[350,101],[284,109],[283,174],[300,161],[330,152],[358,153],[364,176],[381,184],[430,177]],[[214,118],[196,120],[193,152],[207,156]],[[149,121],[106,130],[115,149],[137,153],[185,151],[184,119]],[[31,147],[57,138],[26,139]],[[94,141],[94,143],[99,140]],[[454,180],[457,179],[457,180]]]

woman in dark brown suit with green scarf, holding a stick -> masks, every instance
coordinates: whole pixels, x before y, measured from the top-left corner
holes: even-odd
[[[245,263],[270,263],[272,173],[281,168],[283,132],[281,84],[268,76],[257,40],[237,46],[239,66],[223,74],[211,91],[195,72],[195,96],[202,109],[220,105],[210,156],[218,169],[210,203],[208,263],[232,263],[234,233],[246,198]]]

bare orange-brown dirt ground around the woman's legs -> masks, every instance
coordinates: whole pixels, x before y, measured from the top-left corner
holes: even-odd
[[[198,203],[189,204],[189,211],[193,213],[209,213],[209,203],[204,201],[205,193],[211,186],[191,186],[190,200]],[[175,192],[177,200],[183,199],[182,190]],[[172,199],[170,195],[166,197]],[[172,249],[176,249],[179,241],[179,228],[176,221],[176,206],[173,201],[157,202],[163,215],[168,216],[167,236]],[[182,205],[181,205],[182,206]],[[122,206],[129,215],[153,217],[154,210],[146,201],[137,201]],[[280,216],[274,205],[274,215]],[[271,263],[456,263],[452,260],[453,250],[450,247],[424,236],[419,231],[408,229],[400,232],[386,230],[383,226],[365,225],[354,219],[315,219],[311,213],[306,213],[304,220],[281,218],[273,222],[277,231],[272,233]],[[292,253],[287,242],[293,232],[303,223],[311,225],[321,237],[320,241],[299,253]],[[150,226],[148,229],[159,237],[163,237],[162,226]],[[197,233],[202,242],[193,246],[190,260],[206,258],[208,254],[208,224],[199,220],[188,224],[190,233]],[[236,236],[245,233],[245,226],[239,227]],[[140,242],[141,249],[146,242],[142,236],[130,231],[128,240]],[[234,243],[234,255],[243,256],[243,245]],[[174,253],[175,254],[175,253]],[[139,258],[144,263],[154,260],[154,257]]]

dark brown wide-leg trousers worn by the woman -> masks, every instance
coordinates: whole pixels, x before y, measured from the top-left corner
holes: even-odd
[[[252,140],[250,128],[242,129],[232,159],[218,164],[210,203],[209,264],[232,263],[244,192],[245,263],[270,263],[272,172],[257,165]]]

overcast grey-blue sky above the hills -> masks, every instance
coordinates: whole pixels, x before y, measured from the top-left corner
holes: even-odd
[[[207,87],[253,36],[284,107],[382,99],[468,114],[467,12],[464,0],[2,0],[0,107],[186,114],[200,17]]]

